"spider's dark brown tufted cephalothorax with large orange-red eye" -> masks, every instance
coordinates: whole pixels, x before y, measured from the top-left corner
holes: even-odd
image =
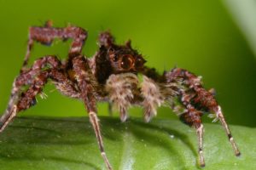
[[[137,73],[143,70],[146,60],[131,48],[131,41],[125,45],[116,45],[113,37],[106,31],[100,34],[99,46],[95,55],[96,78],[99,83],[105,83],[112,74]]]

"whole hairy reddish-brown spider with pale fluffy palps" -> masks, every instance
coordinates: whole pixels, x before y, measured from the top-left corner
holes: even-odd
[[[182,122],[195,128],[201,167],[205,166],[201,116],[212,112],[215,120],[222,123],[236,156],[240,155],[221,108],[214,99],[214,92],[202,87],[201,77],[180,68],[159,74],[154,68],[144,65],[146,60],[137,50],[131,48],[131,41],[118,45],[109,31],[100,34],[96,54],[90,59],[85,58],[81,52],[86,37],[87,31],[77,26],[57,28],[52,27],[48,21],[43,27],[30,27],[26,57],[20,75],[13,83],[8,108],[0,119],[0,133],[18,112],[36,105],[38,94],[44,97],[44,85],[50,80],[61,94],[84,102],[108,170],[113,168],[103,147],[96,115],[97,101],[116,105],[122,122],[125,122],[127,109],[131,105],[141,105],[145,122],[149,122],[156,116],[157,107],[166,102]],[[61,62],[56,56],[47,55],[37,59],[31,68],[27,68],[33,43],[50,45],[55,38],[63,41],[73,39],[67,60]],[[138,81],[138,74],[143,75],[142,82]],[[25,91],[22,90],[24,86],[28,86]]]

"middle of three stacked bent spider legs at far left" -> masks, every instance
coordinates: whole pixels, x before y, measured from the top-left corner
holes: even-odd
[[[55,82],[56,87],[59,87],[58,89],[62,94],[73,98],[79,98],[79,92],[76,90],[76,88],[74,88],[73,82],[71,82],[60,70],[60,60],[55,56],[42,57],[34,62],[30,70],[21,73],[19,77],[15,78],[12,93],[9,99],[9,105],[6,111],[3,113],[3,116],[0,118],[0,128],[2,127],[3,129],[6,127],[8,122],[15,116],[16,111],[20,111],[20,108],[17,108],[17,102],[20,101],[21,88],[26,85],[33,86],[35,83],[35,78],[37,79],[38,75],[43,74],[42,69],[46,66],[51,67],[51,69],[48,69],[49,78]]]

